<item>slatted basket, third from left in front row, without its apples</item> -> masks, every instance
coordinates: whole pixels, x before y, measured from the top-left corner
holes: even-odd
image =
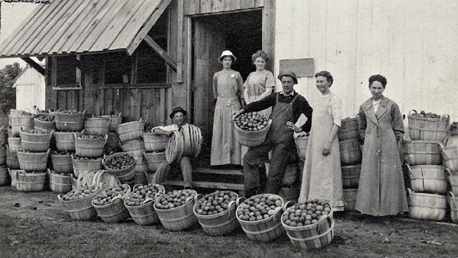
[[[154,200],[159,196],[159,194],[165,192],[166,190],[162,185],[156,186],[159,186],[159,192],[156,194],[154,199],[145,199],[143,204],[138,206],[129,206],[124,202],[125,207],[127,207],[129,214],[132,216],[132,219],[135,221],[135,223],[142,226],[149,226],[154,223],[159,223],[159,216],[154,210]],[[137,185],[134,186],[134,189],[136,187]]]

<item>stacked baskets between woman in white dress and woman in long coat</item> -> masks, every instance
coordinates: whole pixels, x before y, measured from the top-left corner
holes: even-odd
[[[352,211],[357,201],[362,158],[357,118],[342,119],[338,137],[345,210]]]

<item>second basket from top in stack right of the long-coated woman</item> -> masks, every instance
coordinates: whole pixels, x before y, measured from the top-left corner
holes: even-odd
[[[416,140],[404,141],[403,145],[406,163],[410,166],[442,164],[439,142]]]

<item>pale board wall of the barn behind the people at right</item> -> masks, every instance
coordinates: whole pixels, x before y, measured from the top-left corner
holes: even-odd
[[[385,96],[402,113],[449,113],[458,121],[455,1],[281,3],[276,5],[276,74],[280,59],[313,58],[316,71],[332,73],[330,90],[342,99],[343,117],[354,117],[371,97],[369,76],[380,73],[388,80]],[[313,106],[318,97],[314,78],[299,78],[296,90]]]

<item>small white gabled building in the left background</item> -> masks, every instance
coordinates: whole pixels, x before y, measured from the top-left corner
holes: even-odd
[[[27,65],[25,72],[14,83],[16,87],[16,109],[44,109],[44,76]]]

